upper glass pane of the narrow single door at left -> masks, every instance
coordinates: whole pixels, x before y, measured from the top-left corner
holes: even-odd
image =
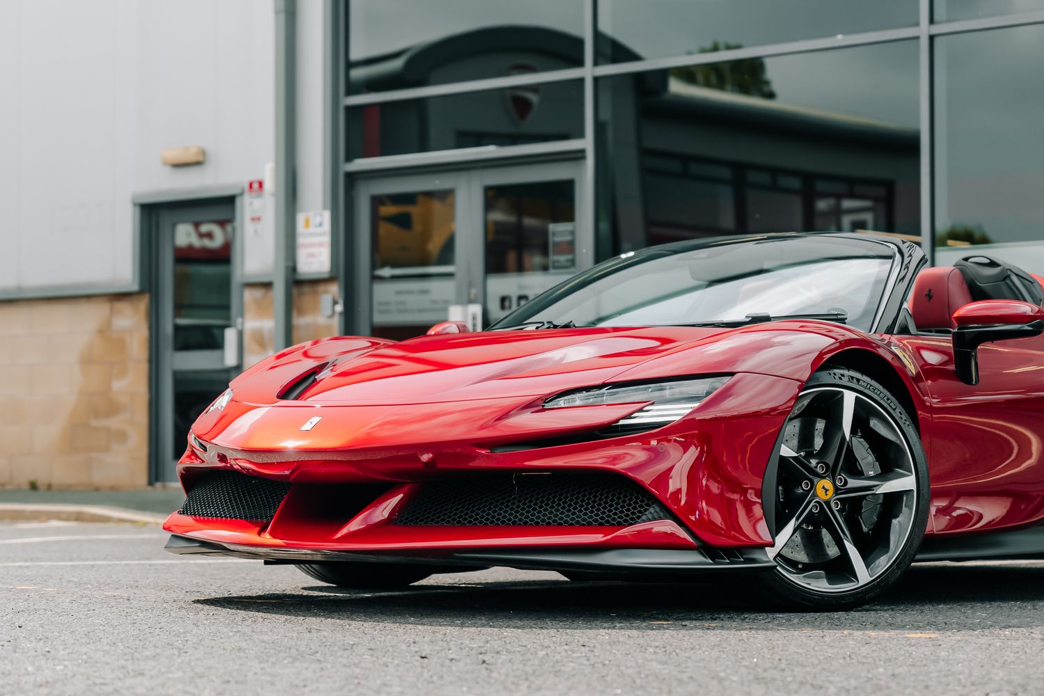
[[[173,298],[174,350],[221,350],[232,323],[232,220],[174,223]]]

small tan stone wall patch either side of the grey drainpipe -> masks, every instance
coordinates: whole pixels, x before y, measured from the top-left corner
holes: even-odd
[[[308,281],[293,286],[293,342],[337,335],[337,318],[324,317],[319,296],[337,294],[337,281]],[[272,314],[271,285],[243,286],[243,367],[271,355],[276,319]]]

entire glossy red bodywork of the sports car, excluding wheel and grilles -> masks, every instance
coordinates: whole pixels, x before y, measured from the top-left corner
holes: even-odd
[[[312,341],[232,383],[205,413],[180,463],[187,485],[235,469],[293,482],[268,525],[172,514],[165,528],[252,546],[432,553],[503,547],[764,547],[765,467],[798,393],[847,353],[886,363],[909,392],[929,462],[929,533],[976,532],[1044,519],[1044,338],[980,349],[981,383],[956,379],[946,336],[872,336],[789,320],[739,329],[566,329],[425,336],[400,343]],[[276,394],[319,374],[299,400]],[[682,419],[640,435],[506,445],[596,431],[644,404],[544,409],[556,393],[616,382],[731,375]],[[309,431],[310,418],[322,421]],[[677,522],[628,528],[406,527],[393,524],[418,486],[476,471],[600,470],[644,486]],[[380,482],[384,494],[338,518],[311,514],[299,488]],[[304,488],[302,488],[304,489]],[[302,496],[304,494],[301,494]]]

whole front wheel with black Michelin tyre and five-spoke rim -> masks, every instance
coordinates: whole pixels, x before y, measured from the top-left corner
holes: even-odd
[[[776,570],[758,576],[790,610],[872,601],[906,571],[928,521],[928,466],[905,409],[847,368],[816,373],[780,445],[773,505]],[[767,491],[766,491],[767,493]]]

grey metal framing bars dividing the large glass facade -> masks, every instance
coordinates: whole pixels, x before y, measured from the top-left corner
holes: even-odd
[[[328,0],[328,2],[336,0]],[[349,0],[350,2],[351,0]],[[540,85],[545,82],[583,79],[584,80],[584,109],[585,109],[585,135],[583,139],[562,141],[557,143],[541,143],[540,145],[518,145],[507,147],[481,147],[458,150],[446,150],[440,152],[421,152],[416,154],[378,157],[364,160],[353,160],[342,163],[342,173],[345,175],[345,187],[341,191],[342,200],[349,205],[353,175],[370,174],[379,171],[392,171],[396,169],[416,169],[422,167],[440,166],[466,166],[468,164],[481,164],[490,161],[509,161],[513,159],[540,159],[548,157],[563,157],[569,153],[583,151],[586,159],[587,176],[585,177],[585,195],[582,206],[587,212],[588,219],[592,224],[597,225],[597,195],[595,177],[595,158],[597,157],[596,139],[596,80],[599,77],[609,75],[622,75],[648,70],[662,70],[665,68],[675,68],[681,66],[702,65],[709,63],[721,63],[726,61],[737,61],[742,58],[770,57],[778,55],[789,55],[794,53],[807,53],[811,51],[827,51],[836,48],[853,46],[867,46],[872,44],[883,44],[898,41],[919,42],[919,69],[920,69],[920,126],[921,126],[921,229],[922,246],[929,259],[929,263],[934,262],[934,160],[933,152],[933,74],[932,74],[932,40],[935,37],[967,31],[980,31],[998,29],[1002,27],[1021,26],[1027,24],[1044,24],[1044,11],[1031,11],[1018,15],[1002,15],[998,17],[986,17],[975,20],[932,23],[932,0],[918,0],[919,21],[915,26],[899,27],[880,31],[865,31],[838,37],[823,37],[820,39],[808,39],[803,41],[784,42],[764,46],[753,46],[713,53],[675,55],[664,58],[652,58],[647,61],[635,61],[631,63],[619,63],[612,65],[595,65],[595,37],[597,32],[597,0],[584,0],[584,66],[579,68],[569,68],[566,70],[555,70],[548,72],[528,73],[524,75],[511,75],[504,77],[494,77],[485,79],[471,80],[467,82],[455,82],[450,85],[432,85],[404,90],[394,90],[388,92],[375,92],[367,94],[349,95],[346,93],[346,82],[342,79],[346,70],[345,45],[347,42],[347,21],[348,17],[340,16],[336,23],[331,26],[330,40],[338,47],[339,53],[335,56],[338,79],[331,82],[334,90],[334,98],[331,100],[339,104],[336,118],[336,127],[333,128],[339,134],[336,143],[330,143],[328,151],[342,153],[340,149],[343,142],[345,112],[354,106],[364,104],[383,103],[403,99],[421,99],[427,97],[445,96],[450,94],[461,94],[466,92],[476,92],[481,90],[503,89],[508,87],[519,87],[523,85]],[[340,8],[340,11],[348,14],[348,6]],[[334,149],[334,148],[337,149]],[[336,218],[335,218],[336,219]],[[350,219],[346,215],[342,220]],[[347,226],[346,226],[347,229]],[[598,239],[597,230],[595,231]],[[600,249],[603,256],[606,249]],[[341,287],[350,287],[346,281],[349,273],[346,263],[341,270]],[[355,269],[353,269],[355,270]]]

